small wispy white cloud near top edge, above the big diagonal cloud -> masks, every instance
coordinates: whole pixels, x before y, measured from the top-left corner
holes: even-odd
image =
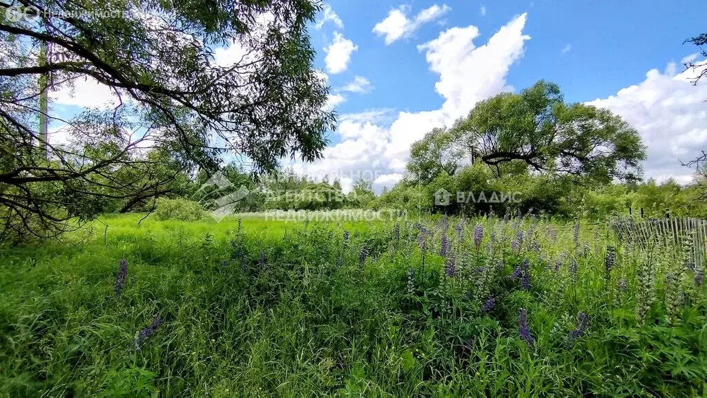
[[[409,13],[410,7],[402,5],[390,10],[384,20],[376,23],[373,27],[373,33],[385,36],[385,44],[390,45],[400,38],[409,38],[422,25],[440,18],[451,9],[447,4],[442,4],[442,6],[434,4],[429,8],[424,8],[414,18],[409,19],[407,13]]]

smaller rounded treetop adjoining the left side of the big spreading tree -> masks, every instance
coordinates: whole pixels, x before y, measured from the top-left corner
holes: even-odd
[[[412,144],[407,170],[421,183],[430,183],[442,172],[453,176],[463,156],[456,138],[446,127],[428,132]]]

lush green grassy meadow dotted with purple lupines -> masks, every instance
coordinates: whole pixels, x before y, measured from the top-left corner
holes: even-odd
[[[0,251],[0,397],[707,396],[689,249],[530,217],[140,219]]]

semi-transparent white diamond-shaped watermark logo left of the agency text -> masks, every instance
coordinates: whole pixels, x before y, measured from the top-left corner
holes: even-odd
[[[235,208],[250,193],[245,186],[236,188],[228,181],[226,176],[216,173],[205,183],[201,184],[199,190],[192,195],[192,200],[196,200],[206,208],[211,210],[211,218],[216,222],[221,222],[223,218],[232,215]]]

